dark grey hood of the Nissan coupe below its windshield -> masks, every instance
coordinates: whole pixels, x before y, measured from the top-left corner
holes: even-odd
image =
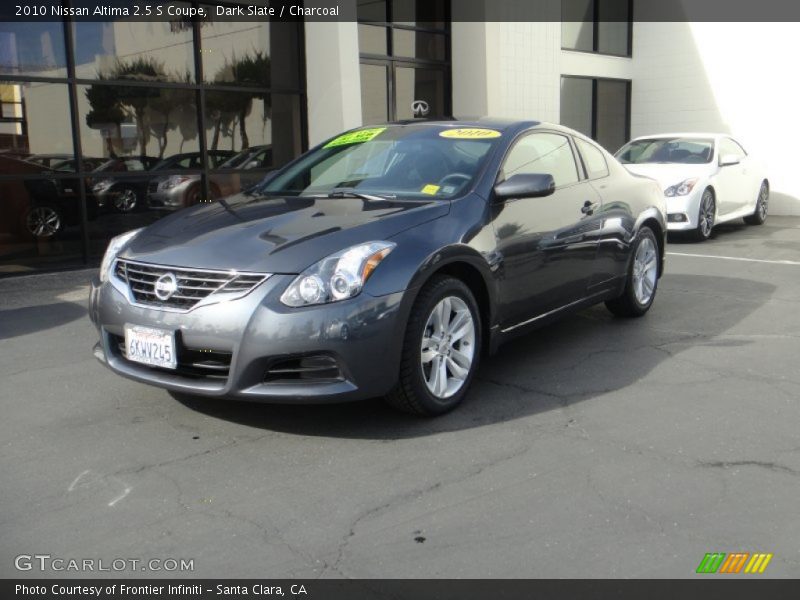
[[[300,273],[349,246],[386,240],[447,214],[449,202],[237,194],[179,211],[120,255],[175,267]]]

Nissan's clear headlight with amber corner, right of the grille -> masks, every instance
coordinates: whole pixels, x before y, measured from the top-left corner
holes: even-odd
[[[296,308],[357,296],[375,268],[396,245],[392,242],[367,242],[331,254],[298,275],[286,288],[281,302]]]

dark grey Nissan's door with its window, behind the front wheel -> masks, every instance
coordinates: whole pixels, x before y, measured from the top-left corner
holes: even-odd
[[[600,198],[579,169],[571,138],[533,132],[517,140],[497,181],[520,173],[553,176],[556,189],[542,198],[493,202],[500,252],[500,310],[503,327],[584,297],[597,251],[594,214]]]

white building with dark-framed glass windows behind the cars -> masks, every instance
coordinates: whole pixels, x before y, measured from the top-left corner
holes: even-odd
[[[543,0],[561,21],[515,20],[508,0],[502,22],[343,2],[358,20],[0,23],[0,275],[95,264],[110,237],[343,129],[411,118],[562,123],[612,152],[731,133],[769,166],[773,212],[800,214],[797,76],[777,59],[796,24],[641,23],[635,0]]]

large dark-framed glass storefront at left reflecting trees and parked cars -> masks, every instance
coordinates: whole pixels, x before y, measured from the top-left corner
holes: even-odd
[[[0,276],[96,262],[302,152],[301,23],[72,22],[69,47],[65,27],[0,24]],[[28,74],[53,81],[3,81]]]

